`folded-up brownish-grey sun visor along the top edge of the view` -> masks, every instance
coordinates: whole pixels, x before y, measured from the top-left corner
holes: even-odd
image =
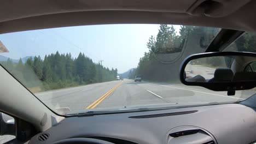
[[[86,1],[3,1],[0,9],[0,22],[22,19],[31,16],[72,13],[78,11],[132,10],[186,13],[196,0],[86,0]]]

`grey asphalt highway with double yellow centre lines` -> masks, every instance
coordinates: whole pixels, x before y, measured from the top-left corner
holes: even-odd
[[[228,96],[226,92],[214,92],[202,87],[146,81],[134,82],[125,79],[58,89],[35,95],[51,109],[63,114],[70,111],[71,113],[88,111],[88,109],[122,109],[127,106],[241,101],[254,93],[237,91],[236,95]]]

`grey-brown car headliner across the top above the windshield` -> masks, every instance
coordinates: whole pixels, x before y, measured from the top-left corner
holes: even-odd
[[[256,31],[250,0],[2,1],[0,33],[111,23],[167,23]]]

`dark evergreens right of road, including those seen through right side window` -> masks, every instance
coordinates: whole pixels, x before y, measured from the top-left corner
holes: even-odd
[[[204,52],[219,30],[211,27],[181,26],[179,34],[177,34],[173,26],[160,25],[156,38],[151,35],[148,40],[147,47],[149,51],[145,52],[144,56],[139,59],[137,68],[129,71],[129,79],[134,79],[136,75],[141,75],[143,80],[178,81],[178,69],[183,59],[191,54]],[[190,39],[190,43],[187,45],[190,51],[187,50],[187,53],[182,54],[183,57],[177,62],[170,64],[161,62],[161,58],[165,54],[182,52],[186,39]],[[246,32],[225,51],[256,52],[255,39],[256,34]],[[221,62],[219,59],[213,60],[215,65]],[[228,60],[226,63],[230,64]]]

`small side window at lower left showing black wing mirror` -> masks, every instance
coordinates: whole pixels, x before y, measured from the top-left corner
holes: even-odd
[[[8,143],[15,139],[15,120],[0,112],[0,143]]]

